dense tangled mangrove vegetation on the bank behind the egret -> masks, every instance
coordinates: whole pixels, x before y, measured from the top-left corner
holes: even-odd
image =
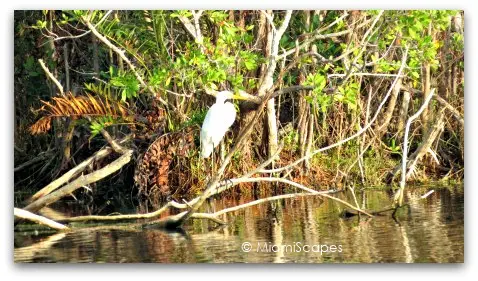
[[[155,201],[196,194],[210,173],[199,129],[226,89],[248,101],[234,101],[218,163],[253,124],[226,178],[283,145],[272,166],[303,158],[281,173],[296,182],[396,182],[407,118],[435,89],[411,124],[411,179],[463,179],[462,12],[16,11],[14,21],[15,190],[36,192],[116,140],[132,160],[98,183]]]

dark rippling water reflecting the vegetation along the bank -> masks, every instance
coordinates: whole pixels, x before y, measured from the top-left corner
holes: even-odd
[[[420,196],[434,189],[426,199]],[[349,202],[347,194],[337,195]],[[362,208],[389,206],[390,194],[357,194]],[[264,203],[228,213],[215,228],[195,220],[184,232],[117,227],[42,234],[15,232],[15,262],[359,263],[464,261],[464,197],[460,188],[415,188],[396,214],[343,218],[343,206],[317,197]],[[250,200],[216,200],[221,210]],[[249,250],[249,251],[247,251]]]

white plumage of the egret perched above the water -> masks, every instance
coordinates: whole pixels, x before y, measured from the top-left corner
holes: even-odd
[[[216,95],[216,103],[209,108],[201,127],[201,157],[207,158],[218,146],[229,127],[236,120],[236,109],[227,99],[233,93],[222,91]]]

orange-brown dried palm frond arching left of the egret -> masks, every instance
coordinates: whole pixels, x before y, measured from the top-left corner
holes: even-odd
[[[86,96],[74,96],[69,93],[65,96],[54,97],[52,101],[41,101],[43,106],[38,110],[44,113],[35,124],[30,127],[32,135],[47,132],[51,127],[54,118],[70,117],[77,119],[81,117],[110,116],[114,119],[130,120],[128,110],[118,101],[109,101],[106,98]]]

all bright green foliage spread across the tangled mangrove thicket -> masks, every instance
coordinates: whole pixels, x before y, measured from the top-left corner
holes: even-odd
[[[204,11],[198,22],[201,41],[194,41],[181,21],[186,18],[194,23],[193,13],[187,10],[112,11],[108,17],[104,17],[106,11],[87,10],[23,13],[21,21],[17,17],[15,19],[15,92],[20,93],[20,98],[16,97],[16,103],[21,101],[22,107],[28,109],[38,108],[40,97],[46,96],[46,100],[49,100],[54,95],[49,89],[51,82],[38,64],[39,58],[46,62],[61,83],[65,83],[63,47],[69,45],[66,47],[71,50],[70,81],[71,88],[76,90],[75,96],[84,95],[83,86],[94,98],[110,104],[120,104],[132,115],[142,117],[135,120],[147,120],[156,126],[151,126],[154,129],[148,132],[142,131],[145,126],[136,126],[139,124],[128,128],[118,127],[121,133],[134,131],[137,135],[142,134],[141,137],[146,136],[145,139],[151,132],[158,132],[158,126],[165,132],[200,126],[209,105],[202,101],[205,87],[245,90],[256,94],[261,79],[259,70],[268,63],[263,57],[266,53],[264,45],[267,38],[256,38],[258,29],[263,27],[262,23],[259,25],[261,14],[258,11]],[[391,77],[344,75],[351,72],[396,74],[405,46],[409,47],[409,56],[403,82],[406,85],[412,82],[413,88],[420,88],[424,65],[431,66],[434,78],[437,73],[447,76],[447,70],[441,68],[443,60],[446,60],[446,65],[453,62],[463,69],[461,57],[464,37],[449,28],[449,17],[455,15],[456,11],[385,11],[375,27],[370,29],[378,13],[379,11],[375,10],[348,12],[348,16],[336,22],[344,15],[344,11],[311,11],[309,14],[306,11],[295,11],[279,42],[279,54],[296,47],[296,44],[304,46],[298,53],[300,61],[296,66],[287,68],[289,63],[297,58],[295,54],[289,55],[284,61],[278,61],[274,77],[278,77],[282,62],[285,63],[287,71],[283,81],[274,82],[281,82],[280,87],[287,88],[304,81],[305,77],[303,85],[313,87],[312,91],[305,91],[306,94],[301,97],[305,96],[311,105],[310,112],[316,117],[313,123],[316,130],[314,146],[334,143],[353,133],[359,124],[362,126],[365,120],[364,112],[359,109],[364,108],[365,104],[360,95],[368,94],[369,85],[377,87],[373,89],[370,103],[372,114],[392,81]],[[274,11],[276,26],[280,25],[283,15],[283,12]],[[86,18],[99,33],[124,51],[125,56],[135,66],[136,72],[103,42],[97,40],[97,44],[93,45],[90,36],[59,40],[52,44],[51,39],[56,36],[75,36],[88,30],[85,25]],[[357,27],[366,21],[366,25]],[[304,40],[311,39],[318,29],[321,29],[321,34],[348,29],[353,29],[353,33],[310,41],[304,45]],[[365,32],[368,30],[371,32],[367,33],[365,38]],[[447,53],[443,52],[444,49]],[[316,51],[330,61],[323,63],[311,56],[302,57],[310,51]],[[90,59],[93,58],[92,54],[95,55],[95,60]],[[96,67],[99,68],[99,75],[94,75],[93,78],[91,73]],[[341,75],[329,76],[330,74]],[[144,80],[148,89],[143,88],[137,76]],[[460,92],[464,87],[461,80],[463,79],[457,80]],[[362,86],[367,86],[367,90],[362,89]],[[171,107],[158,102],[155,99],[158,95]],[[291,93],[277,99],[281,102],[281,118],[287,120],[286,122],[297,122],[297,111],[294,111],[298,101],[296,96],[296,93]],[[419,106],[422,102],[421,96],[414,96],[411,102],[415,105],[414,108]],[[450,104],[456,108],[461,108],[460,102],[459,99],[450,99]],[[237,103],[235,105],[237,106]],[[288,106],[291,109],[287,108]],[[23,116],[23,113],[17,114]],[[29,123],[38,119],[38,116],[28,116],[32,119]],[[94,137],[102,129],[120,122],[122,120],[107,115],[93,118],[91,123],[83,124],[89,126],[91,137]],[[131,120],[128,119],[128,122]],[[18,123],[22,125],[22,121]],[[138,129],[139,127],[141,129]],[[294,130],[283,138],[288,149],[297,150],[297,131]],[[459,139],[458,133],[455,133],[454,138]],[[395,139],[381,141],[385,143],[382,146],[385,146],[387,157],[390,156],[389,151],[392,154],[400,153],[400,146],[396,145]],[[377,144],[372,143],[372,148],[364,155],[367,178],[379,178],[377,171],[380,167],[393,167],[396,164],[394,161],[387,162],[387,159],[384,159],[385,164],[376,163],[376,159],[382,160],[385,157],[384,153],[381,154],[381,149],[373,147],[375,145]],[[336,154],[318,154],[317,157],[323,159],[321,166],[325,166],[331,174],[336,174],[336,169],[345,170],[353,164],[350,159],[357,158],[357,149],[357,143],[352,141],[337,149]],[[234,159],[240,161],[241,152],[236,152]],[[354,169],[355,167],[351,174]]]

